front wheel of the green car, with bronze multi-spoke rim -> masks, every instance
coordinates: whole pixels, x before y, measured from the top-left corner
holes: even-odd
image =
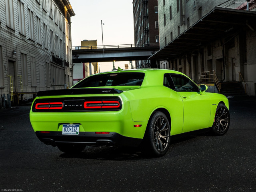
[[[217,106],[214,122],[212,124],[212,133],[216,136],[224,135],[228,131],[230,124],[230,114],[228,108],[220,103]]]

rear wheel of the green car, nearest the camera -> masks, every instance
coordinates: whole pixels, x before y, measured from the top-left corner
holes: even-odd
[[[170,123],[163,112],[156,111],[148,121],[142,141],[142,153],[146,156],[162,156],[170,145]]]

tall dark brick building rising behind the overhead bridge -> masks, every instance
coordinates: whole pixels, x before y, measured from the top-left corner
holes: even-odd
[[[133,0],[134,44],[159,45],[157,0]],[[153,62],[153,61],[151,61]],[[136,68],[150,68],[150,60],[136,61]]]

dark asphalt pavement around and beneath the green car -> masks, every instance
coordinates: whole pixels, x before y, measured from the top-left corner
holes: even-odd
[[[160,158],[107,146],[66,155],[38,140],[29,111],[30,106],[0,109],[0,191],[256,191],[255,97],[230,98],[224,136],[172,140]]]

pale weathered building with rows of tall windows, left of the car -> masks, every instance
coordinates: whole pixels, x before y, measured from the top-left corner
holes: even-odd
[[[68,0],[0,0],[1,95],[15,102],[72,86],[74,15]]]

